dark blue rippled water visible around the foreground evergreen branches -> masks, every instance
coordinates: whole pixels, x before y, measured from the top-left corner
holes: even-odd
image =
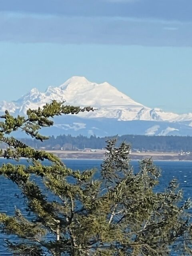
[[[7,160],[0,159],[0,165],[8,162]],[[16,163],[14,161],[9,161]],[[101,160],[79,160],[79,159],[66,159],[64,163],[67,167],[73,170],[87,170],[90,168],[100,168]],[[162,170],[162,176],[160,177],[160,184],[158,190],[163,189],[168,185],[172,179],[177,179],[180,188],[183,190],[184,200],[192,198],[192,162],[184,161],[154,161],[156,166]],[[26,160],[20,160],[20,164],[26,164]],[[134,170],[139,168],[138,161],[132,161],[130,163]],[[24,200],[20,199],[20,190],[10,180],[0,176],[0,212],[12,215],[15,207],[24,211]],[[6,234],[0,234],[0,256],[12,255],[6,250],[4,240],[9,238]]]

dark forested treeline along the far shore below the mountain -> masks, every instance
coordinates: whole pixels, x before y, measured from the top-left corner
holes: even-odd
[[[33,148],[46,148],[52,149],[63,149],[63,150],[77,150],[84,148],[102,149],[106,146],[106,140],[112,137],[96,137],[90,136],[87,138],[85,136],[72,137],[71,135],[60,135],[54,138],[50,137],[44,142],[32,140],[32,139],[22,139],[22,141]],[[123,135],[118,136],[118,142],[130,143],[132,150],[139,151],[166,151],[166,152],[178,152],[178,151],[191,151],[192,152],[192,137],[180,137],[180,136],[144,136],[144,135]]]

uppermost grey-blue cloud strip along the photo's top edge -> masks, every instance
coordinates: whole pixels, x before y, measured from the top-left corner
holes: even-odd
[[[192,21],[191,0],[0,0],[1,11],[84,17]]]

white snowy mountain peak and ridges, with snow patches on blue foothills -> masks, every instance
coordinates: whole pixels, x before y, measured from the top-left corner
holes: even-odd
[[[35,109],[39,106],[42,107],[52,100],[65,101],[66,104],[74,106],[92,106],[97,109],[94,112],[78,114],[78,118],[83,118],[84,120],[84,122],[81,120],[80,130],[86,128],[86,124],[84,123],[87,121],[85,120],[92,119],[92,121],[98,122],[98,120],[102,119],[103,121],[107,118],[108,122],[109,120],[113,120],[113,122],[118,121],[118,124],[120,124],[120,121],[153,121],[149,127],[147,126],[147,128],[142,131],[142,134],[179,135],[181,126],[184,125],[184,127],[188,127],[187,134],[184,133],[182,135],[190,135],[190,133],[192,135],[192,113],[179,115],[164,112],[159,108],[151,109],[135,102],[107,82],[97,84],[80,76],[73,76],[58,87],[49,86],[45,92],[39,92],[38,89],[33,88],[28,94],[25,94],[16,101],[0,102],[0,112],[8,110],[12,114],[24,115],[28,108]],[[60,120],[61,123],[56,124],[55,128],[66,130],[68,127],[69,130],[72,130],[71,127],[76,127],[74,125],[67,126],[67,124],[63,126],[63,119],[61,117]],[[164,122],[168,123],[166,127]],[[179,122],[180,126],[175,127],[174,124],[173,127],[173,122]],[[164,130],[161,130],[160,124],[162,123],[164,123]],[[77,128],[74,129],[78,130]],[[97,128],[95,131],[96,130]],[[124,133],[126,133],[126,131]],[[132,133],[134,134],[134,130]]]

